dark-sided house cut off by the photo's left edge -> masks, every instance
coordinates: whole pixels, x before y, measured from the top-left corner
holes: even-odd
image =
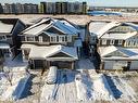
[[[18,34],[25,24],[18,18],[0,18],[0,61],[7,57],[14,59],[20,51],[21,40]]]

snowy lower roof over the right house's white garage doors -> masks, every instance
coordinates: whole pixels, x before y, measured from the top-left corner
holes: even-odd
[[[99,48],[100,55],[102,59],[134,59],[138,60],[138,49],[127,49],[127,48],[121,48],[121,47],[114,47],[114,46],[109,46],[109,47],[100,47]],[[113,53],[115,51],[121,52],[125,56],[108,56],[108,54]]]

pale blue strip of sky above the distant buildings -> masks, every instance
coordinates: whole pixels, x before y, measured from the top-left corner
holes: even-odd
[[[87,1],[96,7],[138,7],[138,0],[0,0],[1,3],[39,3],[40,1]]]

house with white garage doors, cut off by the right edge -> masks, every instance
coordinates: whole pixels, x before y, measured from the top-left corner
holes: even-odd
[[[89,24],[90,46],[97,46],[101,69],[138,69],[137,30],[138,25],[133,23],[96,21]]]

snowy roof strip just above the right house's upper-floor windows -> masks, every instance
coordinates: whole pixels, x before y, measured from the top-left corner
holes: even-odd
[[[105,39],[122,39],[122,40],[125,40],[125,39],[128,39],[133,36],[137,35],[137,31],[133,31],[133,33],[126,33],[126,34],[104,34],[101,38],[105,38]]]

